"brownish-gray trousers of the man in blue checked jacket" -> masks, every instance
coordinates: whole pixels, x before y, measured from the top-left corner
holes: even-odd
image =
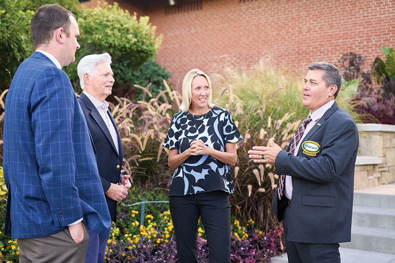
[[[81,263],[88,245],[88,228],[82,224],[84,237],[77,244],[66,230],[43,237],[18,238],[19,263]]]

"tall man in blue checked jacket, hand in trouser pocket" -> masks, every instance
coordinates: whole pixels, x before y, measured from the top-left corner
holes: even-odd
[[[79,28],[46,4],[31,21],[35,52],[16,71],[5,100],[5,230],[20,263],[80,263],[87,228],[109,238],[111,219],[83,113],[62,67],[75,61]]]

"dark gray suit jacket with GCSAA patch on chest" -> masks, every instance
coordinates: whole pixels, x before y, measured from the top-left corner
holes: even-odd
[[[332,244],[351,241],[354,170],[358,130],[353,117],[335,102],[300,143],[319,145],[316,156],[299,147],[297,156],[280,151],[276,173],[292,176],[287,239],[294,242]],[[289,148],[289,146],[288,146]],[[282,221],[285,198],[273,210]]]

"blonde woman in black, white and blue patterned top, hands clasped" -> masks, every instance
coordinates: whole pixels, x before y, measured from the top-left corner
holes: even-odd
[[[180,113],[174,114],[163,147],[174,169],[169,189],[179,263],[197,263],[197,222],[204,225],[210,263],[230,262],[229,165],[242,140],[231,114],[211,103],[210,78],[198,69],[185,75]]]

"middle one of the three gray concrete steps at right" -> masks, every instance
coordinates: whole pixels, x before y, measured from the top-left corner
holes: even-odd
[[[395,209],[354,206],[353,226],[395,230]]]

